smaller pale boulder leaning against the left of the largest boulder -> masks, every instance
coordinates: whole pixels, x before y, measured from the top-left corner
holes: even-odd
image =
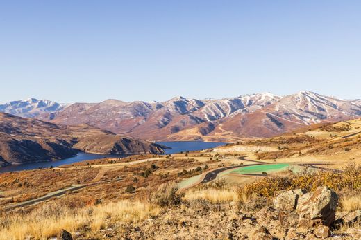
[[[293,211],[296,209],[299,197],[302,195],[303,192],[300,189],[283,192],[274,199],[274,206],[278,210]]]

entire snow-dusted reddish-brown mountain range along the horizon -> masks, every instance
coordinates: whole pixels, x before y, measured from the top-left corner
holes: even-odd
[[[63,125],[89,124],[143,140],[234,141],[276,136],[305,125],[361,116],[361,100],[342,100],[301,91],[224,99],[172,98],[165,102],[58,104],[20,100],[0,111]]]

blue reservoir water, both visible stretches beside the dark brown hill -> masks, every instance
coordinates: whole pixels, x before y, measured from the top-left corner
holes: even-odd
[[[176,154],[181,151],[199,151],[203,149],[209,149],[212,147],[217,147],[225,145],[224,142],[199,142],[199,141],[188,141],[188,142],[157,142],[160,145],[165,145],[166,147],[171,147],[165,149],[165,154]],[[63,160],[54,160],[49,162],[40,162],[40,163],[26,163],[22,165],[11,165],[7,167],[0,167],[1,172],[15,172],[22,170],[31,170],[38,168],[48,168],[48,167],[58,167],[61,165],[67,165],[72,163],[81,162],[84,160],[93,160],[98,158],[119,158],[121,155],[101,155],[101,154],[87,154],[84,152],[78,153],[78,155],[65,158]]]

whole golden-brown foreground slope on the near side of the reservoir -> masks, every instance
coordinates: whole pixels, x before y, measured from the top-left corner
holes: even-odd
[[[316,124],[204,151],[4,173],[0,239],[60,237],[62,229],[74,239],[360,239],[360,127]],[[224,167],[274,163],[290,167],[201,181]]]

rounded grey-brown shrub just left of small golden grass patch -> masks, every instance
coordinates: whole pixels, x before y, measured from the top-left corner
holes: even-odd
[[[178,186],[174,182],[163,183],[156,192],[151,194],[151,203],[161,207],[178,205],[182,202],[184,193],[178,192]]]

